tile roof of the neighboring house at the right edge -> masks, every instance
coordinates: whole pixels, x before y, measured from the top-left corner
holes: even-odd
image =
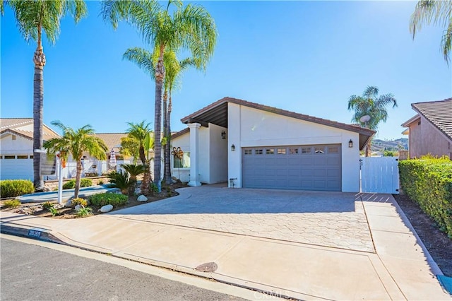
[[[413,103],[411,107],[452,140],[452,98],[417,102]]]

